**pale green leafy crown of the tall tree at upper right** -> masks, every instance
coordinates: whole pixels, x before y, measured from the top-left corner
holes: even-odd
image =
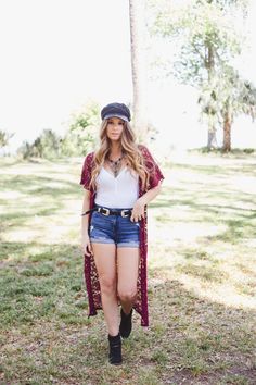
[[[184,84],[201,87],[222,63],[241,52],[243,36],[233,27],[233,15],[225,14],[215,3],[190,1],[184,7],[164,2],[153,32],[177,38],[178,52],[172,74]],[[209,57],[208,49],[213,57]]]

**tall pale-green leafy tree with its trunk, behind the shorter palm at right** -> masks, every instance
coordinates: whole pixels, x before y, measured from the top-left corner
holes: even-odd
[[[194,0],[183,8],[174,7],[174,2],[162,2],[165,7],[157,11],[154,30],[161,36],[179,39],[172,74],[181,83],[199,89],[202,114],[207,117],[207,147],[210,149],[217,145],[220,111],[225,110],[228,100],[219,99],[218,89],[233,92],[234,86],[220,75],[241,52],[244,41],[244,36],[234,27],[234,13],[243,17],[247,1]]]

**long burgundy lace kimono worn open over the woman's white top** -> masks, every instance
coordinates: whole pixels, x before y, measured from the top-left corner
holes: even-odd
[[[150,170],[150,187],[149,189],[156,187],[164,176],[152,158],[150,151],[144,146],[139,146],[140,151],[145,160],[145,165]],[[90,208],[93,208],[95,191],[89,188],[91,179],[91,170],[93,166],[93,152],[89,153],[84,162],[80,185],[86,189],[90,189],[91,199]],[[141,197],[145,190],[142,189],[139,182],[139,197]],[[137,301],[133,305],[133,309],[141,315],[141,326],[149,326],[149,313],[148,313],[148,293],[146,293],[146,251],[148,251],[148,237],[146,237],[146,209],[145,218],[141,221],[140,226],[140,264],[139,276],[137,282]],[[101,305],[101,291],[98,272],[92,256],[85,256],[85,281],[87,286],[88,302],[89,302],[89,315],[95,315],[97,310],[102,309]]]

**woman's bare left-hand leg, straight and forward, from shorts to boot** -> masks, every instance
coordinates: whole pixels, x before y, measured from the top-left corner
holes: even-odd
[[[107,331],[111,336],[119,332],[119,315],[116,296],[116,246],[92,244],[93,256],[101,286],[101,300]]]

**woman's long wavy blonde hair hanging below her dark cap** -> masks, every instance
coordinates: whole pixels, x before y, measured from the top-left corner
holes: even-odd
[[[95,178],[100,173],[107,156],[111,151],[111,140],[106,136],[107,120],[103,120],[100,127],[100,148],[94,152],[93,169],[91,172],[90,186],[95,189]],[[121,150],[125,154],[127,166],[138,173],[142,183],[142,188],[149,187],[150,170],[146,169],[142,153],[136,144],[136,135],[128,122],[124,122],[124,129],[120,137]]]

